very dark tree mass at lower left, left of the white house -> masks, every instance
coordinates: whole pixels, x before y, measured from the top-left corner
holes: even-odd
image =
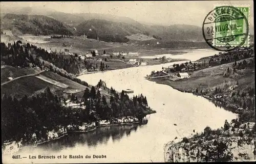
[[[7,140],[26,143],[36,133],[37,138],[47,138],[47,130],[58,125],[67,125],[72,118],[71,111],[60,105],[60,99],[53,95],[50,88],[40,95],[18,100],[4,95],[2,103],[2,143]]]

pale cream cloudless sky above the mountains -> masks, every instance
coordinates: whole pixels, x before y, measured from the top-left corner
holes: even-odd
[[[253,23],[253,1],[126,1],[126,2],[1,2],[1,8],[40,7],[66,13],[100,13],[130,17],[154,24],[201,26],[215,5],[249,6]]]

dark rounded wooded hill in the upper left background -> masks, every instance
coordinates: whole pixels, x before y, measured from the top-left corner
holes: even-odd
[[[1,31],[11,30],[13,34],[73,35],[71,26],[42,15],[5,14],[1,17]]]

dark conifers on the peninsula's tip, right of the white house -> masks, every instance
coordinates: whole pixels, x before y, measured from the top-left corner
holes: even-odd
[[[106,97],[100,93],[98,88],[92,87],[91,91],[87,88],[84,91],[83,99],[86,101],[87,110],[96,112],[97,117],[94,119],[110,119],[123,116],[136,116],[142,119],[149,108],[146,97],[142,94],[130,99],[124,91],[117,93],[111,88],[109,93],[111,97],[107,102]]]

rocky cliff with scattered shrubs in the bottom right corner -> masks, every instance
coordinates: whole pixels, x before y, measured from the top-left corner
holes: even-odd
[[[191,138],[175,139],[164,145],[165,162],[256,161],[255,123],[229,129],[205,128]]]

